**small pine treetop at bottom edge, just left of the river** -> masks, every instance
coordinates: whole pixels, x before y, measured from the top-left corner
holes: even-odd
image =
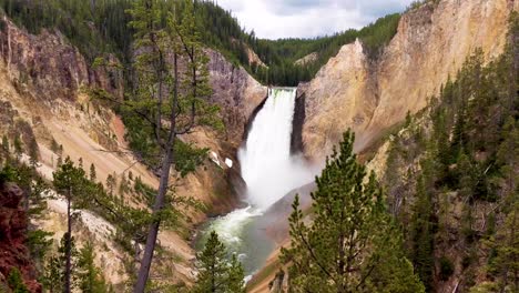
[[[235,255],[231,262],[227,261],[227,251],[216,232],[211,232],[204,250],[197,253],[196,261],[199,279],[193,292],[244,292],[243,269]]]

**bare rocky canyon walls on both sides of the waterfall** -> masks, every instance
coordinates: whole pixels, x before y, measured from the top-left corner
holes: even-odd
[[[377,57],[369,55],[359,40],[343,46],[312,81],[297,88],[292,153],[301,152],[312,164],[323,165],[342,133],[350,128],[357,138],[356,151],[373,151],[374,159],[368,165],[378,174],[384,173],[387,144],[379,142],[386,133],[404,121],[407,113],[424,109],[475,49],[480,48],[487,61],[498,57],[506,43],[508,18],[511,11],[518,10],[519,2],[513,0],[430,1],[403,13],[397,33]],[[121,119],[89,95],[89,89],[99,88],[123,99],[122,73],[116,69],[93,68],[59,31],[43,30],[35,36],[8,18],[3,23],[0,27],[0,134],[13,133],[20,121],[29,125],[26,132],[38,141],[39,171],[47,180],[52,179],[55,170],[58,154],[51,150],[51,142],[55,141],[75,162],[81,158],[84,165],[94,164],[101,182],[111,174],[132,172],[156,188],[159,182],[153,172],[125,151],[128,142]],[[182,137],[185,142],[210,149],[204,168],[187,175],[177,188],[180,194],[210,206],[206,213],[193,216],[194,222],[190,223],[193,229],[208,218],[243,208],[245,178],[242,179],[238,150],[246,143],[250,128],[268,97],[268,87],[257,82],[244,68],[233,64],[216,50],[205,52],[210,58],[213,90],[210,101],[221,108],[225,131],[200,128]],[[257,58],[253,51],[250,54]],[[299,62],[314,58],[312,54]],[[114,55],[109,59],[119,62]],[[261,60],[257,62],[262,64]],[[313,188],[299,188],[306,194],[306,206]],[[265,203],[269,208],[266,214],[275,211],[274,214],[286,216],[293,196],[294,192],[288,192],[277,203]],[[132,199],[126,201],[134,204]],[[95,240],[96,263],[111,283],[122,285],[128,280],[120,273],[124,271],[122,261],[103,262],[124,257],[110,240],[110,223],[88,211],[82,218],[84,223],[77,231],[78,240]],[[35,224],[53,232],[58,242],[65,231],[63,219],[62,203],[50,201],[45,219]],[[276,219],[267,224],[275,226],[267,233],[276,246],[269,247],[272,253],[264,270],[253,277],[252,292],[268,292],[271,281],[275,280],[276,271],[272,267],[277,262],[278,246],[287,244],[287,225],[281,222],[282,219]],[[195,275],[191,241],[192,235],[161,231],[161,245],[179,261],[161,262],[154,267],[156,274],[171,274],[173,282],[191,283]],[[102,243],[108,243],[108,249],[101,247]]]

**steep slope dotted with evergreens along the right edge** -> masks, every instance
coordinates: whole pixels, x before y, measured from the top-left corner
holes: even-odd
[[[501,291],[502,282],[512,289],[515,264],[497,263],[516,257],[509,250],[512,242],[502,241],[502,235],[510,240],[513,234],[506,223],[513,219],[518,201],[517,36],[519,18],[512,13],[505,53],[486,62],[482,51],[475,50],[455,79],[448,78],[438,99],[432,98],[420,115],[408,118],[391,141],[384,183],[396,218],[409,232],[408,256],[428,291],[437,290],[435,276],[445,281],[458,266],[465,280],[459,290],[468,291],[485,270],[477,266],[478,260],[487,255],[490,282],[475,292]],[[403,198],[410,204],[403,204]],[[485,206],[496,208],[481,213]],[[447,247],[464,255],[462,261],[436,256]],[[501,249],[512,253],[507,261],[498,256]]]

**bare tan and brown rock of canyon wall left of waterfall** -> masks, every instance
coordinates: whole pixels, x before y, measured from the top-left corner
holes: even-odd
[[[121,182],[131,172],[156,188],[157,179],[126,151],[125,129],[121,119],[106,107],[92,101],[83,90],[101,88],[121,98],[124,91],[122,74],[93,69],[59,31],[43,30],[34,36],[9,19],[0,22],[0,121],[4,122],[0,125],[0,135],[7,134],[12,140],[16,134],[22,134],[23,139],[27,129],[38,142],[38,171],[47,180],[52,180],[59,156],[52,150],[51,142],[55,142],[63,146],[64,156],[70,155],[75,162],[81,158],[85,166],[94,164],[100,182],[105,182],[109,175]],[[218,52],[208,50],[207,53],[213,85],[211,101],[221,107],[227,132],[222,138],[212,131],[199,129],[182,138],[208,148],[211,152],[204,166],[184,179],[177,193],[201,200],[211,208],[211,213],[218,213],[237,204],[236,191],[230,182],[240,180],[238,164],[231,168],[225,159],[235,161],[235,150],[242,141],[248,117],[266,97],[267,89],[244,69],[227,62]],[[113,57],[109,58],[118,62]],[[130,205],[138,202],[131,198],[125,201]],[[62,203],[59,200],[49,201],[44,219],[37,223],[54,233],[57,241],[64,232],[65,210]],[[123,260],[128,255],[113,240],[113,226],[89,211],[82,211],[81,218],[84,224],[78,226],[74,236],[79,242],[93,240],[99,256],[96,261],[106,280],[112,284],[123,284],[128,277]],[[192,220],[197,223],[203,219],[204,215],[199,214]],[[167,274],[171,282],[191,282],[194,252],[189,245],[189,233],[163,230],[159,238],[166,254],[175,255],[179,260],[174,263],[163,262],[160,270]]]

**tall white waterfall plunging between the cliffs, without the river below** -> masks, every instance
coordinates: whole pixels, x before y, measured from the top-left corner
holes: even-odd
[[[291,155],[295,99],[296,89],[271,89],[238,151],[246,198],[261,210],[313,179],[303,160]]]

